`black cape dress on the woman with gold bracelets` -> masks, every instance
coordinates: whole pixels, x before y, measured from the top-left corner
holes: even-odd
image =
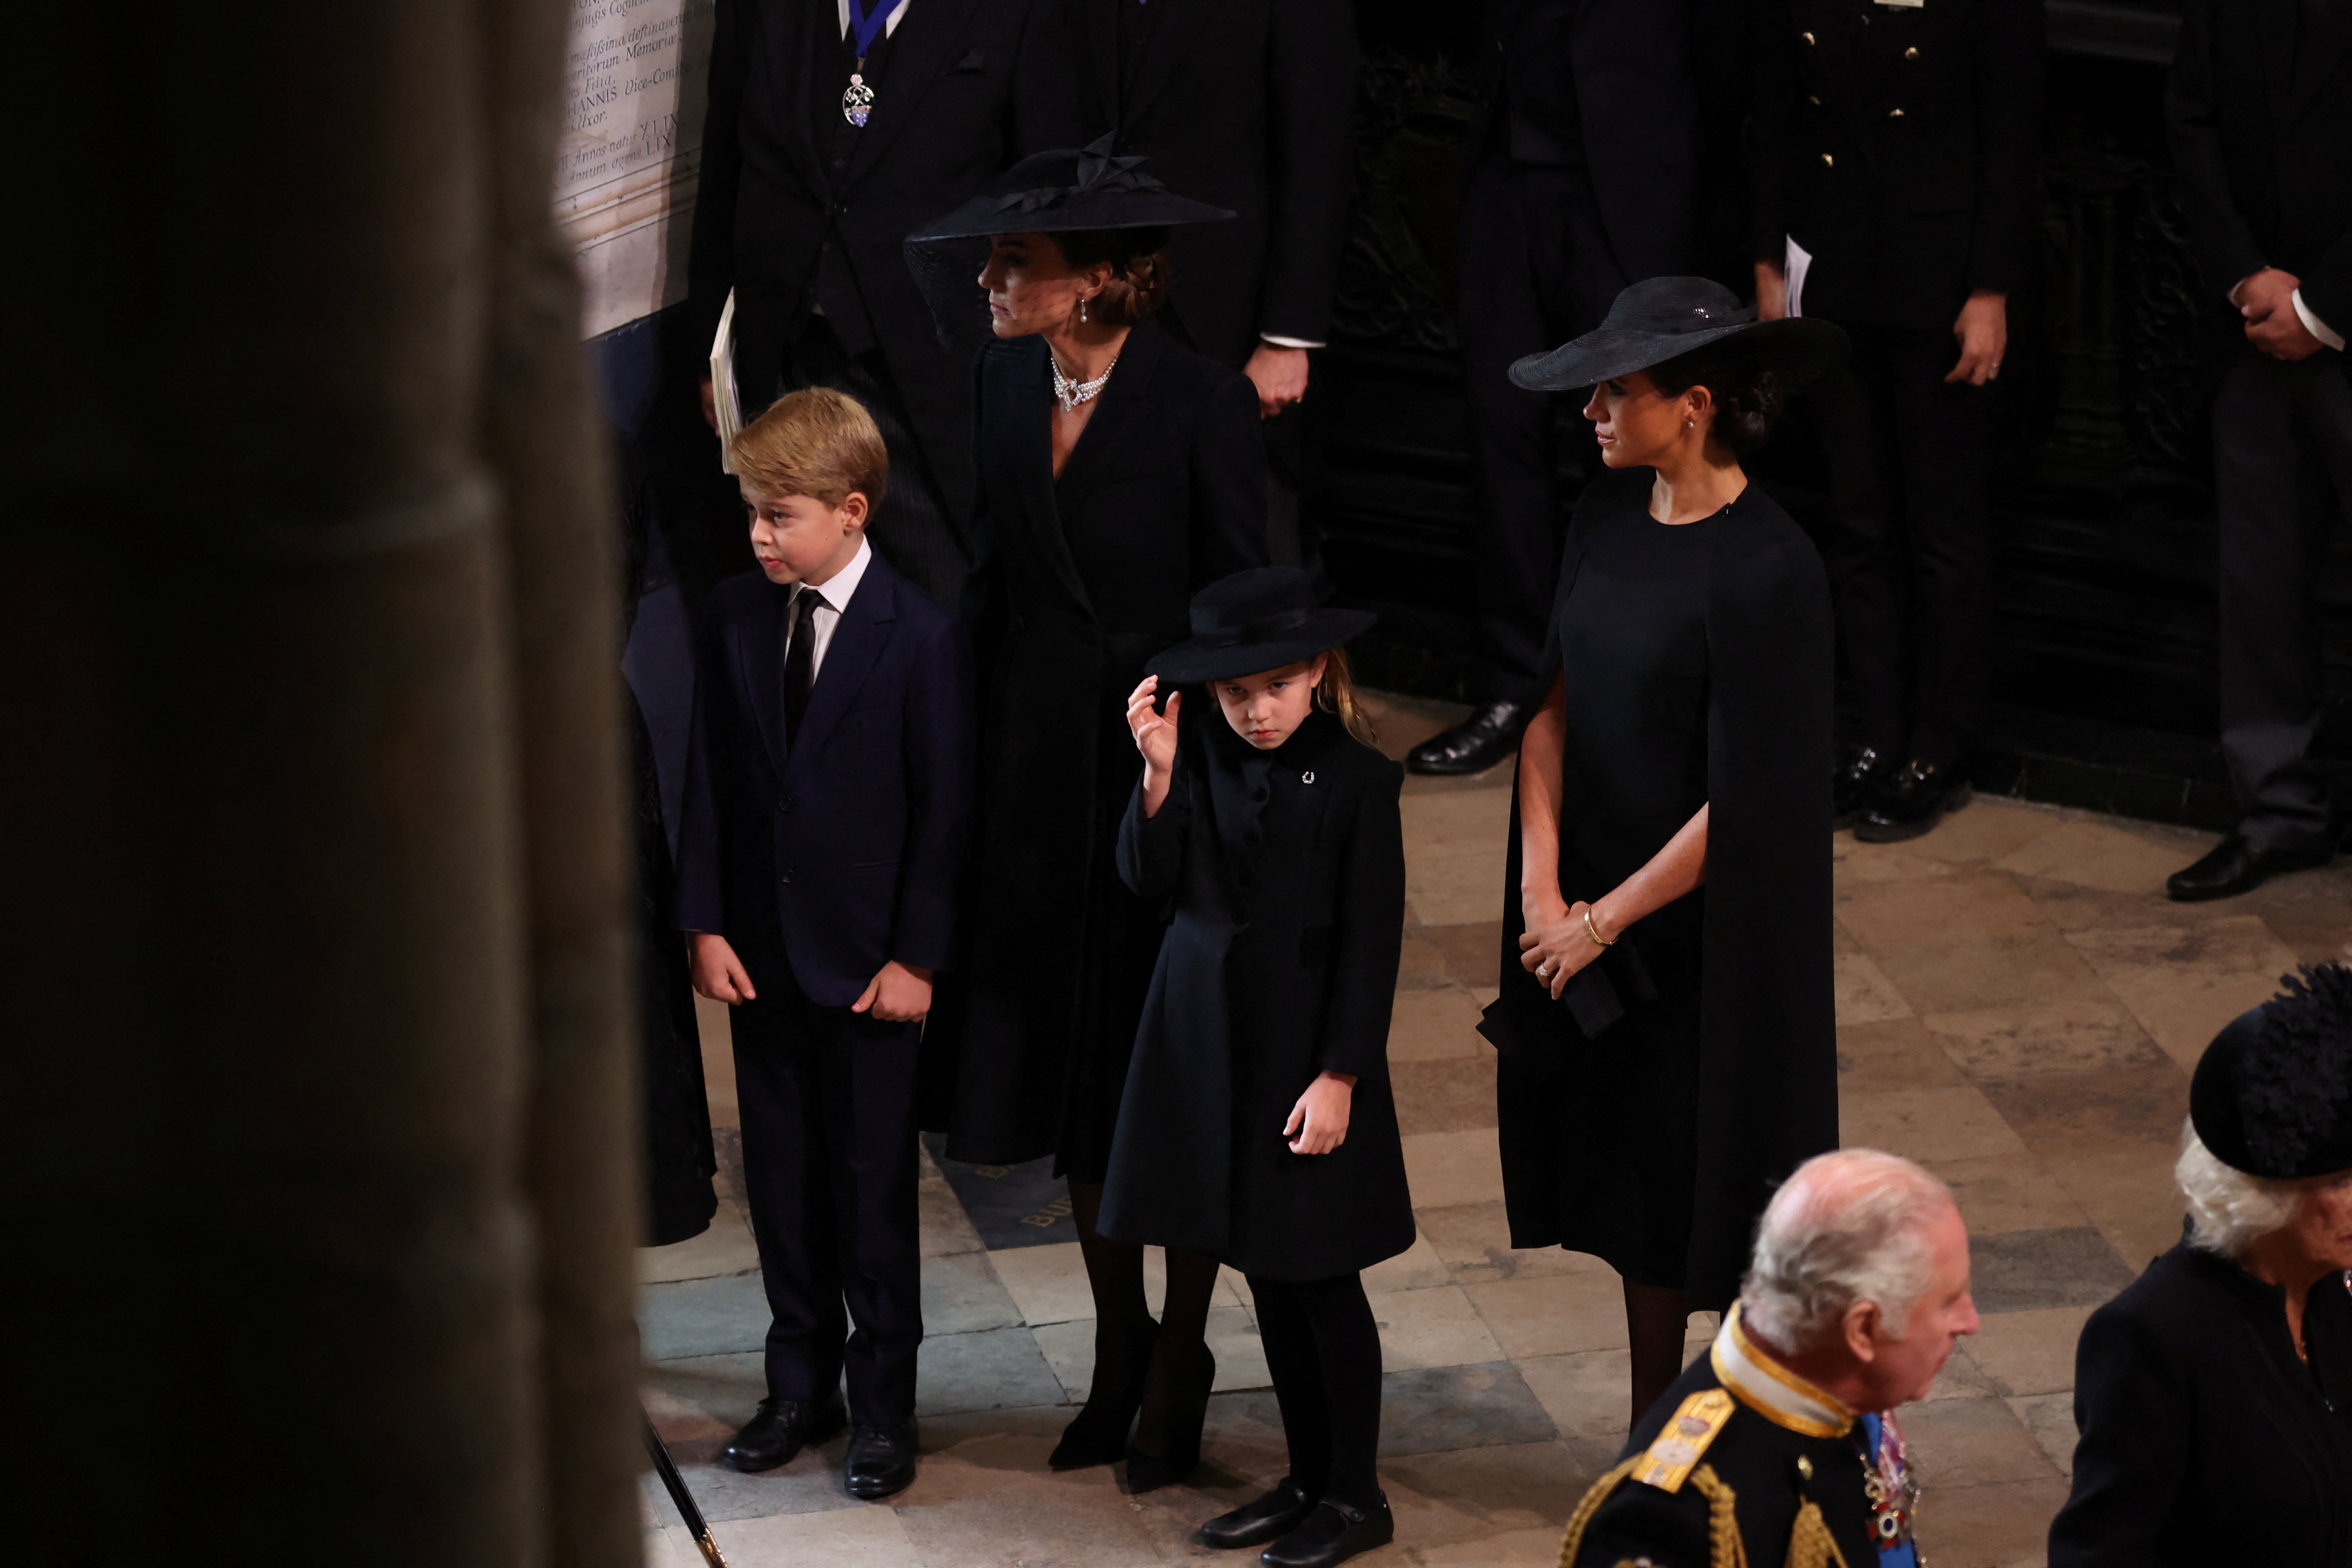
[[[1755,1220],[1837,1147],[1830,945],[1830,590],[1757,487],[1700,522],[1649,515],[1649,468],[1569,524],[1545,689],[1566,689],[1559,891],[1599,898],[1708,806],[1705,886],[1630,926],[1562,1001],[1519,966],[1512,809],[1498,1126],[1512,1246],[1738,1295]]]

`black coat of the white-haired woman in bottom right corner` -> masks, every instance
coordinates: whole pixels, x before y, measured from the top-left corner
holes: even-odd
[[[2051,1568],[2352,1561],[2352,1295],[2303,1309],[2183,1241],[2091,1314],[2074,1347],[2074,1490]]]

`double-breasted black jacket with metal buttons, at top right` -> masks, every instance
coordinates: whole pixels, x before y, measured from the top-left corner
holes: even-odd
[[[2034,263],[2042,0],[1769,0],[1750,242],[1811,256],[1802,308],[1947,329]]]

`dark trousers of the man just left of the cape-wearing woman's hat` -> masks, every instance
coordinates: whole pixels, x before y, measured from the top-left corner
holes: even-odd
[[[1552,440],[1559,397],[1512,386],[1510,362],[1590,331],[1632,280],[1609,247],[1583,167],[1515,165],[1491,150],[1463,190],[1461,259],[1486,698],[1536,703],[1569,520]],[[1590,437],[1578,451],[1599,461]]]

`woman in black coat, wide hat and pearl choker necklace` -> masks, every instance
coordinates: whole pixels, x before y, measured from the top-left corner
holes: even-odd
[[[1120,712],[1181,642],[1192,590],[1265,562],[1265,447],[1249,381],[1169,343],[1171,223],[1214,207],[1098,150],[1040,153],[922,240],[990,235],[995,339],[974,386],[981,661],[978,867],[960,983],[927,1048],[955,1056],[948,1154],[1056,1157],[1094,1291],[1094,1385],[1056,1467],[1143,1476],[1209,1399],[1216,1260],[1169,1253],[1155,1328],[1143,1251],[1096,1227],[1110,1128],[1160,922],[1112,846],[1141,762]],[[1004,233],[1018,223],[1021,233]],[[1138,1422],[1141,1410],[1141,1422]]]

